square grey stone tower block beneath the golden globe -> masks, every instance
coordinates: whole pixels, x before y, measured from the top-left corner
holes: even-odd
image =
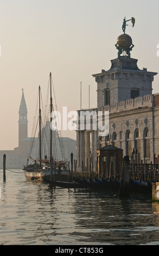
[[[137,59],[120,57],[111,62],[111,69],[93,75],[97,82],[97,107],[152,93],[152,81],[157,73],[138,69]]]

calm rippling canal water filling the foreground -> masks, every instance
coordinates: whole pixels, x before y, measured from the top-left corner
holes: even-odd
[[[0,172],[0,245],[159,245],[159,204]]]

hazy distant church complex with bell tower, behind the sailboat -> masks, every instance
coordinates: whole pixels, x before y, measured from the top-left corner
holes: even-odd
[[[27,118],[27,105],[25,100],[25,95],[22,89],[22,97],[19,107],[19,146],[17,148],[14,148],[14,150],[0,150],[0,168],[3,168],[3,155],[6,155],[6,168],[7,169],[22,169],[23,166],[26,165],[27,159],[30,153],[30,147],[33,142],[33,138],[28,137],[28,118]],[[42,131],[48,131],[50,130],[50,123],[47,122],[46,126],[42,128]],[[56,150],[54,149],[54,154],[56,156],[62,157],[60,155],[60,147],[59,147],[59,141],[58,136],[56,134],[56,131],[54,131],[54,145],[56,144]],[[62,137],[61,138],[63,150],[65,153],[66,159],[70,161],[71,159],[71,153],[74,154],[76,157],[76,141],[71,138]],[[46,138],[44,138],[44,147],[43,147],[43,155],[48,156],[48,150],[47,148],[47,141]],[[46,146],[46,147],[45,147]],[[45,148],[45,150],[44,150]],[[56,152],[55,152],[56,151]],[[39,138],[34,138],[34,144],[32,147],[32,158],[37,159],[39,153]],[[55,157],[54,157],[55,158]],[[62,160],[62,159],[59,159]],[[30,160],[31,161],[31,160]]]

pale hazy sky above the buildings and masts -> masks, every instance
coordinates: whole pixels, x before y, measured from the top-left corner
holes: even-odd
[[[108,70],[117,58],[115,43],[123,34],[122,24],[132,37],[132,58],[140,69],[159,72],[158,0],[0,0],[0,150],[18,146],[19,106],[24,89],[31,136],[38,87],[46,95],[50,72],[57,107],[68,111],[96,107],[96,82],[92,74]],[[158,93],[159,75],[153,82]],[[62,132],[76,138],[75,132]]]

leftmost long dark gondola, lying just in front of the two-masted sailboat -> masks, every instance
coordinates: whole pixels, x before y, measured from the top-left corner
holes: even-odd
[[[63,188],[87,188],[87,184],[79,184],[78,182],[66,182],[66,181],[53,181],[44,176],[44,181],[52,186],[58,186]]]

